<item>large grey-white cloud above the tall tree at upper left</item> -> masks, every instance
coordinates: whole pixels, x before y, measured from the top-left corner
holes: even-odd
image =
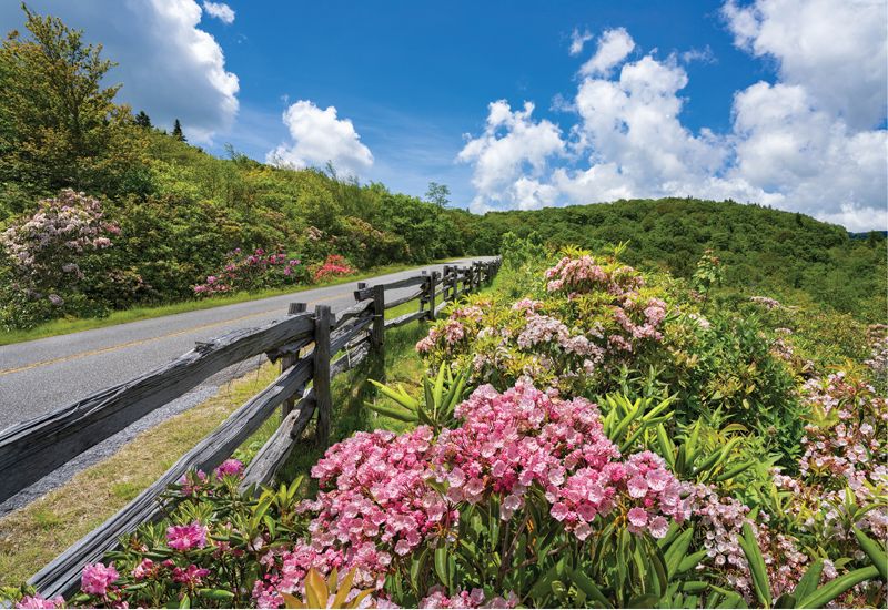
[[[182,122],[188,138],[206,143],[226,132],[238,114],[238,77],[225,70],[222,49],[201,30],[193,0],[124,0],[109,10],[104,0],[29,0],[29,8],[54,14],[101,42],[118,62],[110,82],[122,82],[119,100],[144,110],[158,126]],[[22,29],[17,2],[0,3],[0,28]]]

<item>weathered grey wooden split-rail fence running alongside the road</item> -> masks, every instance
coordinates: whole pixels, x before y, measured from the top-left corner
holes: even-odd
[[[44,597],[77,590],[84,565],[101,560],[121,537],[162,515],[159,496],[192,469],[211,470],[228,459],[280,406],[281,424],[246,467],[243,489],[274,479],[294,443],[315,418],[315,439],[329,444],[331,380],[367,356],[384,358],[385,329],[418,319],[435,319],[442,307],[490,283],[500,260],[389,284],[359,284],[354,305],[333,313],[327,305],[306,312],[291,304],[285,318],[259,328],[232,331],[134,379],[99,392],[69,407],[0,431],[0,501],[52,472],[90,447],[198,386],[211,375],[265,354],[281,363],[281,375],[233,411],[215,430],[182,456],[157,481],[104,523],[52,560],[29,583]],[[412,288],[386,301],[386,292]],[[393,319],[385,311],[418,301],[418,308]],[[377,370],[380,367],[377,367]]]

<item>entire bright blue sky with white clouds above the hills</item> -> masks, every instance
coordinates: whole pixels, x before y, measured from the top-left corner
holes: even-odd
[[[477,212],[693,195],[861,231],[888,225],[886,1],[29,4],[216,154]]]

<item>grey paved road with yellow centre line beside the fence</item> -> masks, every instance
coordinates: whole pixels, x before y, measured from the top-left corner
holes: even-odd
[[[456,264],[470,261],[466,258]],[[440,270],[442,266],[417,267],[366,282],[393,282],[415,275],[420,270]],[[307,303],[310,308],[321,303],[329,304],[335,312],[354,303],[352,293],[355,287],[356,283],[341,284],[2,346],[0,429],[151,370],[188,352],[194,342],[206,340],[233,328],[260,326],[279,319],[291,302]],[[394,299],[403,294],[406,293],[394,292],[387,296]],[[218,377],[209,379],[198,390],[216,385]]]

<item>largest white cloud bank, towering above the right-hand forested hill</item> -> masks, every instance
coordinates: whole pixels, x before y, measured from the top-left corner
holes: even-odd
[[[731,129],[722,134],[683,125],[688,75],[675,55],[628,61],[635,49],[628,32],[604,32],[579,70],[567,135],[529,112],[498,121],[508,105],[491,104],[485,132],[457,157],[474,164],[474,209],[698,196],[801,211],[852,231],[885,228],[888,136],[878,128],[888,37],[871,22],[886,4],[847,7],[840,0],[724,7],[737,45],[776,60],[779,79],[736,92]],[[833,21],[840,35],[824,34]],[[830,79],[841,85],[827,87]]]

